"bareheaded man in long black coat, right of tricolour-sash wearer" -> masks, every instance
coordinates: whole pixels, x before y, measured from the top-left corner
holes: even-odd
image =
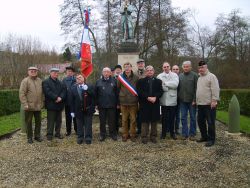
[[[137,82],[137,92],[142,122],[142,143],[148,142],[149,124],[151,124],[150,140],[156,143],[157,121],[160,120],[159,98],[163,90],[162,82],[154,77],[154,68],[151,65],[146,67],[146,77]]]

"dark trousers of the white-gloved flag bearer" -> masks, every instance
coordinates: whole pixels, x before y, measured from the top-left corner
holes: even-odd
[[[85,138],[86,140],[92,140],[92,119],[93,115],[84,114],[80,118],[76,118],[77,124],[77,139],[82,141]]]

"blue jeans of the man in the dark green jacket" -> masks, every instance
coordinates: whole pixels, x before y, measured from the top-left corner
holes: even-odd
[[[196,135],[196,106],[192,102],[180,102],[181,109],[181,123],[182,123],[182,136],[195,136]],[[188,112],[190,116],[190,127],[188,129]]]

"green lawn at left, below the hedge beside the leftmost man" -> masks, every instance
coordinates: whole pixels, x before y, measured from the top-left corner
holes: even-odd
[[[42,118],[46,117],[46,111],[42,111]],[[20,113],[0,117],[0,136],[21,128]]]

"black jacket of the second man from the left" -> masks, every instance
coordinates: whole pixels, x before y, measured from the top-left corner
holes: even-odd
[[[53,80],[49,77],[43,81],[42,86],[45,95],[45,108],[47,110],[63,110],[66,98],[66,88],[64,84],[58,79]],[[56,103],[57,97],[61,97],[62,101]]]

